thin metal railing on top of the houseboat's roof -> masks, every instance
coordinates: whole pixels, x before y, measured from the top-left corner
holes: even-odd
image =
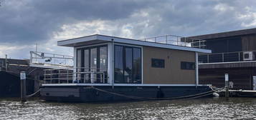
[[[194,39],[183,36],[174,36],[174,35],[166,35],[166,36],[156,36],[146,39],[139,39],[141,41],[154,42],[158,44],[171,44],[176,46],[189,46],[194,48],[203,49],[205,44],[205,40],[202,39]]]

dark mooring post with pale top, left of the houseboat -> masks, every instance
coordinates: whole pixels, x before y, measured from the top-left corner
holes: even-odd
[[[21,71],[20,73],[20,79],[21,79],[21,101],[27,101],[26,99],[26,72]]]

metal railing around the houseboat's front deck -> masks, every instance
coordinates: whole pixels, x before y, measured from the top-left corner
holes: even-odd
[[[44,69],[44,84],[108,84],[106,69]]]

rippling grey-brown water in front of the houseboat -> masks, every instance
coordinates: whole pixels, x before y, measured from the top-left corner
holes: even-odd
[[[256,119],[256,98],[86,104],[0,99],[0,119]]]

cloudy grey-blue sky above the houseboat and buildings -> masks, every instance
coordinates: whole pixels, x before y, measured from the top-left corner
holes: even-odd
[[[57,41],[91,34],[143,39],[256,27],[255,0],[0,0],[0,58],[72,56]]]

